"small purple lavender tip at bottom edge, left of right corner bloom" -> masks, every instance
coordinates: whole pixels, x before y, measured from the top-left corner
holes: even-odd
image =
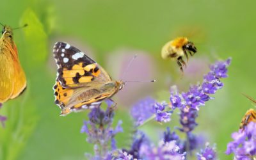
[[[204,150],[201,149],[200,153],[197,154],[198,160],[214,160],[216,158],[215,147],[209,147],[209,143],[206,143]]]

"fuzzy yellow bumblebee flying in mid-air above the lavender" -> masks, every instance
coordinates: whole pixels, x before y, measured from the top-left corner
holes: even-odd
[[[196,53],[195,45],[186,37],[178,37],[170,42],[167,42],[163,46],[161,56],[164,60],[167,58],[176,60],[180,70],[183,72],[183,67],[186,67],[186,62],[182,59],[182,57],[186,56],[188,63],[188,53],[191,56]]]

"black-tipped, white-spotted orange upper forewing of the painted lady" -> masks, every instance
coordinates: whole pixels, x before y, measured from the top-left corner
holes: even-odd
[[[57,79],[61,86],[81,87],[92,82],[111,81],[111,77],[102,67],[76,47],[65,42],[57,42],[53,52],[58,66]]]

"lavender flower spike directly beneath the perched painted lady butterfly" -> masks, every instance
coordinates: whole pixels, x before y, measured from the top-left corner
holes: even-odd
[[[116,149],[115,135],[123,131],[121,127],[122,121],[118,122],[115,129],[111,127],[114,116],[113,108],[111,107],[108,107],[106,111],[100,107],[93,108],[88,116],[89,120],[84,121],[81,132],[88,135],[86,141],[95,144],[95,156],[91,156],[90,159],[96,160],[106,157],[105,159],[107,160],[109,157],[108,144],[111,142],[112,150]]]

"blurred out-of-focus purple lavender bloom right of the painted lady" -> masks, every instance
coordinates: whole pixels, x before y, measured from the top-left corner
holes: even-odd
[[[151,97],[140,100],[131,109],[131,115],[135,120],[135,125],[141,125],[145,120],[153,115],[152,106],[156,103],[156,100]]]

